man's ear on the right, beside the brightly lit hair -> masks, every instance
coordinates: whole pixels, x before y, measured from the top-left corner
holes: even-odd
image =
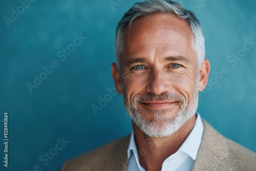
[[[199,68],[198,89],[200,92],[202,92],[207,85],[209,72],[210,62],[208,59],[204,59]]]

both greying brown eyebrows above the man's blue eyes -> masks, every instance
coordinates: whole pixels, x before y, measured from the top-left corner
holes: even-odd
[[[188,63],[189,65],[191,65],[191,61],[186,58],[185,56],[168,56],[164,58],[165,61],[184,61],[186,63]],[[129,67],[131,65],[133,65],[133,63],[139,63],[139,62],[148,62],[148,60],[144,57],[138,57],[138,58],[132,58],[127,60],[124,63],[124,67]]]

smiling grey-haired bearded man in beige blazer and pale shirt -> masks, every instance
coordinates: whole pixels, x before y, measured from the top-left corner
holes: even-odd
[[[210,70],[198,19],[179,3],[136,3],[120,20],[112,76],[131,135],[62,170],[256,170],[256,155],[196,113]]]

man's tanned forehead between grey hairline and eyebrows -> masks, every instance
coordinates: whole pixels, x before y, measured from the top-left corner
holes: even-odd
[[[155,14],[136,19],[123,34],[124,52],[121,56],[139,53],[172,51],[176,55],[190,53],[193,33],[184,19],[173,14]]]

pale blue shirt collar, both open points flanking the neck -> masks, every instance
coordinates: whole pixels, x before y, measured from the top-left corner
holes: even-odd
[[[196,117],[197,117],[196,123],[192,131],[190,132],[186,140],[183,142],[181,147],[178,149],[178,151],[182,151],[187,155],[189,155],[194,161],[196,160],[196,157],[197,157],[198,149],[202,141],[203,130],[204,130],[204,125],[200,117],[200,114],[196,113]],[[139,163],[138,151],[137,151],[137,146],[134,138],[134,132],[132,131],[129,147],[127,150],[128,159],[133,154],[135,156],[137,163]]]

